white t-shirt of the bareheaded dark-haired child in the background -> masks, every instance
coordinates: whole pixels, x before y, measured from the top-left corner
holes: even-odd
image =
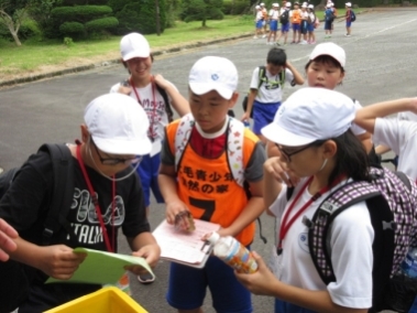
[[[252,74],[252,80],[250,85],[251,89],[257,89],[257,86],[260,84],[259,74],[260,68],[256,67]],[[266,82],[263,82],[261,87],[259,88],[255,100],[261,104],[276,104],[282,101],[283,90],[281,85],[278,84],[281,74],[271,75],[270,72],[267,72],[267,69],[265,68],[265,76]],[[285,83],[290,83],[293,82],[293,72],[290,72],[288,68],[285,68]]]

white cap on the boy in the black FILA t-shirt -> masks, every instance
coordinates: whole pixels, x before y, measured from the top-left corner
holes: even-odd
[[[107,94],[94,99],[84,111],[84,120],[96,145],[111,154],[149,154],[150,122],[132,97]]]

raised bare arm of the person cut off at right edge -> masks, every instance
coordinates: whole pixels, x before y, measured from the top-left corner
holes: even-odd
[[[364,107],[356,111],[354,122],[366,131],[374,133],[376,118],[386,117],[400,111],[417,112],[417,97],[402,98]]]

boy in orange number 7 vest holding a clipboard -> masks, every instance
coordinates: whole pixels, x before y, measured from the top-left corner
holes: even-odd
[[[191,114],[166,127],[162,152],[158,181],[167,222],[189,212],[249,247],[263,212],[265,152],[242,122],[228,117],[239,96],[238,71],[227,58],[206,56],[194,64],[188,82]],[[166,299],[178,312],[201,312],[207,287],[217,312],[252,312],[249,291],[216,257],[202,269],[172,263]]]

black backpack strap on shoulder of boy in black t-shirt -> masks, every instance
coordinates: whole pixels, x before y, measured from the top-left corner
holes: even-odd
[[[53,196],[43,230],[43,245],[47,246],[61,227],[70,236],[74,235],[67,222],[74,196],[74,166],[73,155],[66,144],[43,144],[39,151],[51,155],[54,173]]]

